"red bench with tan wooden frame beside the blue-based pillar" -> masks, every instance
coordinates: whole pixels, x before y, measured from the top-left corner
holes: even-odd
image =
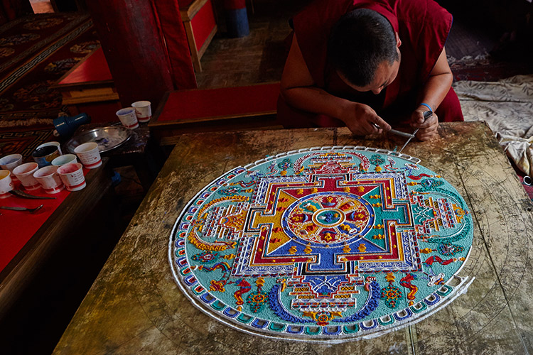
[[[217,33],[211,0],[179,0],[178,4],[194,69],[201,72],[200,59]]]

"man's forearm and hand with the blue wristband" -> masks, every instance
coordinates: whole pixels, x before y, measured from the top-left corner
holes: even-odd
[[[431,70],[429,79],[422,89],[420,102],[429,104],[435,112],[438,105],[441,104],[446,94],[448,94],[452,82],[453,75],[448,65],[448,60],[446,60],[446,50],[443,49],[441,55],[438,56],[433,70]],[[419,128],[418,133],[416,133],[416,138],[419,138],[421,141],[431,139],[436,135],[438,129],[438,117],[436,114],[424,122],[424,111],[427,110],[427,107],[420,105],[411,116],[411,126]]]

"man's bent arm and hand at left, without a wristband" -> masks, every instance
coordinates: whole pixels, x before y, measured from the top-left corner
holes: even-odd
[[[372,122],[385,130],[390,129],[389,124],[377,116],[371,107],[335,97],[324,89],[316,87],[303,60],[296,35],[293,37],[291,50],[281,75],[281,96],[296,109],[342,120],[355,134],[380,133],[382,130],[372,126]]]

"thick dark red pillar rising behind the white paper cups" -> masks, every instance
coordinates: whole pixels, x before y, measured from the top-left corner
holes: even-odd
[[[177,2],[173,2],[177,6]],[[176,88],[171,74],[176,71],[171,69],[165,46],[172,41],[170,38],[163,40],[160,20],[154,12],[160,8],[152,5],[151,1],[135,0],[87,1],[124,107],[139,100],[148,100],[156,107],[165,92]],[[180,18],[178,9],[165,10],[176,19]],[[185,37],[183,39],[186,41]],[[193,71],[192,63],[190,71]]]

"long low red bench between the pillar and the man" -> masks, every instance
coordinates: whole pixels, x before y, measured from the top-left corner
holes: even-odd
[[[167,92],[148,126],[161,146],[182,133],[281,129],[278,97],[279,82]]]

